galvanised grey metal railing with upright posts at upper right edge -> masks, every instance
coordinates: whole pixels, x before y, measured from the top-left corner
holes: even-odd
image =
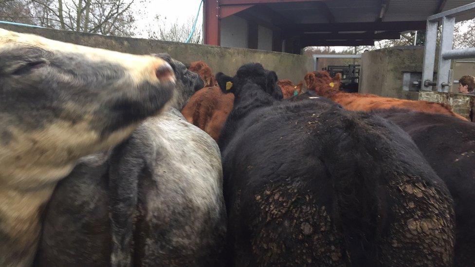
[[[424,65],[422,69],[422,90],[431,91],[436,87],[439,92],[448,92],[452,85],[450,65],[452,59],[475,57],[475,48],[453,50],[455,16],[475,11],[475,2],[435,14],[427,18],[425,35]],[[475,12],[474,17],[475,17]],[[437,81],[433,81],[436,58],[437,31],[441,23],[440,50],[438,55]]]

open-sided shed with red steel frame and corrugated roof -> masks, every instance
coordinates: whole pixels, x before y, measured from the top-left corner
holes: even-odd
[[[426,29],[427,17],[473,0],[205,0],[204,40],[300,53],[307,46],[374,45]],[[457,21],[473,18],[457,16]]]

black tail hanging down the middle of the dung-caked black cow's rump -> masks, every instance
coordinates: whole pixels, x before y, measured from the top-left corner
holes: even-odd
[[[338,116],[338,115],[337,115]],[[380,184],[383,175],[378,155],[378,143],[368,142],[367,132],[360,132],[360,122],[351,115],[337,118],[341,125],[340,135],[331,136],[324,148],[324,162],[332,179],[334,209],[345,236],[348,263],[353,266],[377,266],[377,245],[375,240],[385,224],[385,191]],[[363,137],[365,136],[365,137]],[[373,151],[370,151],[373,150]],[[344,254],[344,255],[345,255]]]

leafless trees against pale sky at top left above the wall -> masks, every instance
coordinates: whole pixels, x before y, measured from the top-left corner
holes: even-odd
[[[61,30],[131,36],[135,29],[131,6],[140,1],[144,0],[0,0],[0,18]]]

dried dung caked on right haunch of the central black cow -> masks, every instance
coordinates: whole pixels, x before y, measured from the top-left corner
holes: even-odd
[[[451,226],[455,224],[450,197],[407,177],[391,182],[386,189],[397,202],[392,209],[397,220],[389,229],[394,238],[381,242],[385,262],[395,266],[450,265],[454,247]],[[398,255],[401,251],[404,261]]]

